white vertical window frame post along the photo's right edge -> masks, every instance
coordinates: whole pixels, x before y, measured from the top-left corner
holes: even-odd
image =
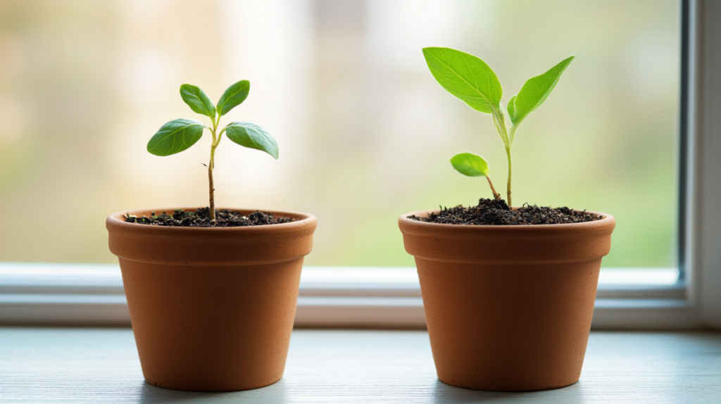
[[[696,25],[693,33],[695,114],[690,122],[692,152],[692,217],[690,241],[695,290],[692,302],[700,306],[707,326],[721,328],[721,1],[692,2]]]

